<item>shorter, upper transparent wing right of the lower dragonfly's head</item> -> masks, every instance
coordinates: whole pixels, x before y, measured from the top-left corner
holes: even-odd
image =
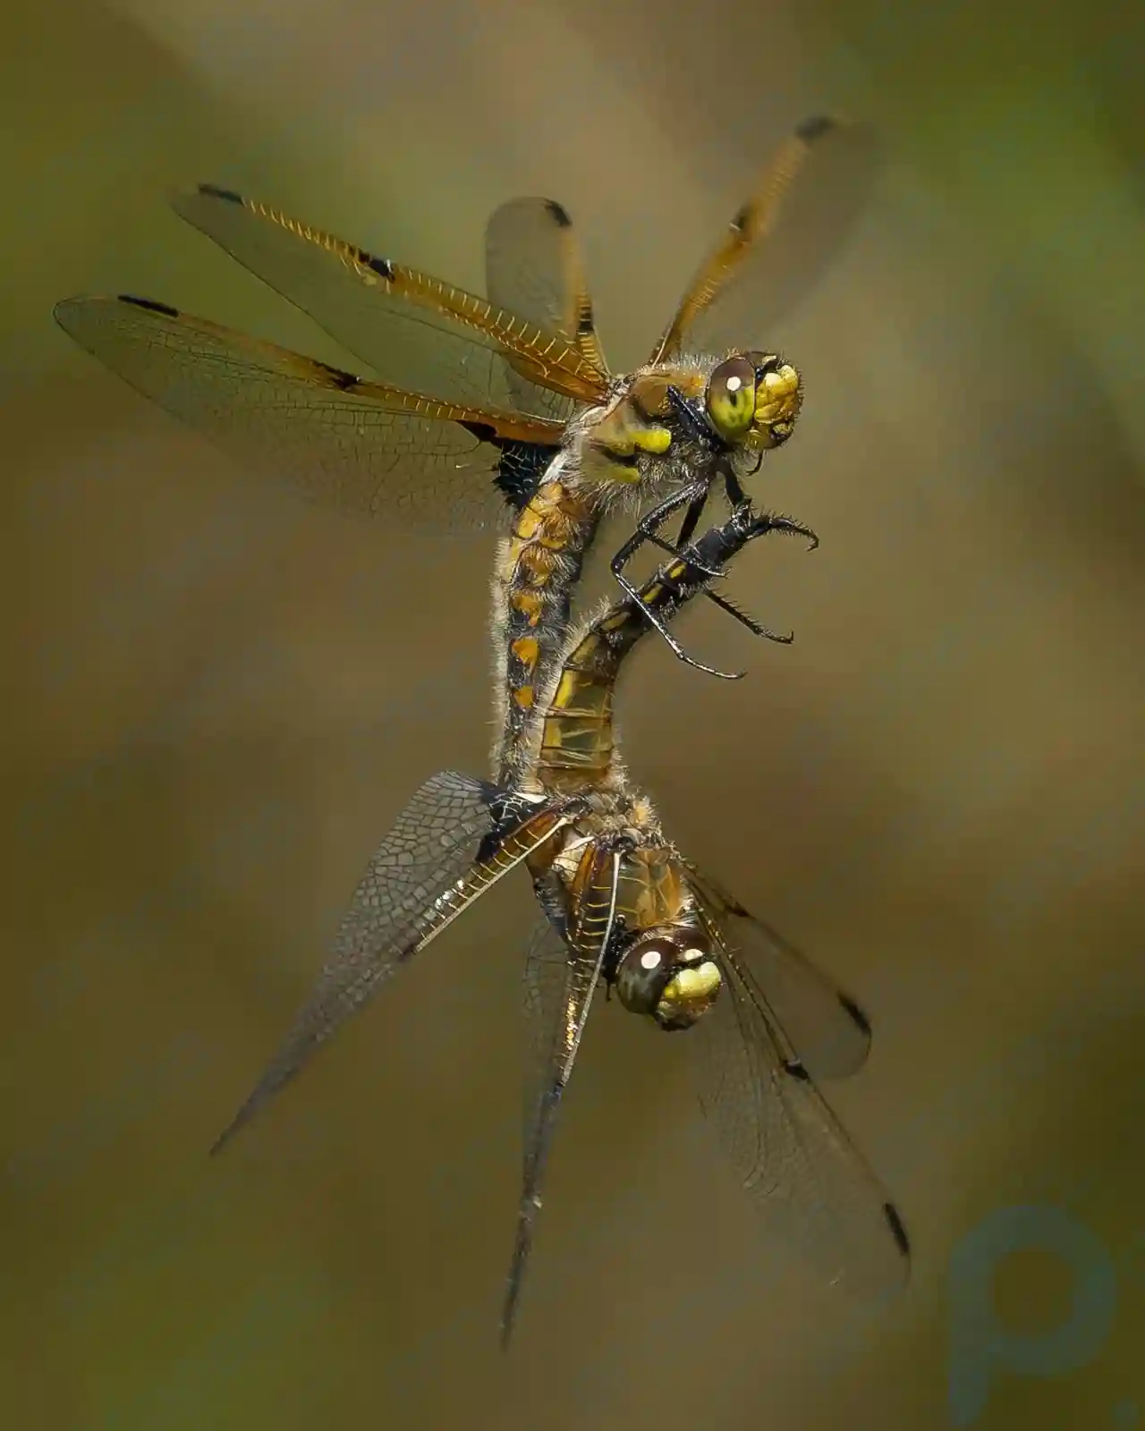
[[[736,950],[743,980],[771,1022],[783,1029],[812,1078],[847,1078],[870,1052],[867,1016],[770,924],[687,863],[701,896],[700,916],[718,943]]]

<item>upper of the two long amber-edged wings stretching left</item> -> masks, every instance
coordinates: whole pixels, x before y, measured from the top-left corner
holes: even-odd
[[[540,388],[594,402],[604,375],[567,339],[255,199],[200,185],[176,213],[309,313],[385,382],[468,406],[514,406],[505,358]],[[547,416],[538,405],[522,411]]]

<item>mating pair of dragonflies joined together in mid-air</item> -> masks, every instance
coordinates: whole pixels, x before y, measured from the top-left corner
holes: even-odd
[[[56,309],[67,333],[145,395],[313,499],[365,517],[507,528],[494,574],[494,778],[445,771],[418,790],[375,851],[293,1029],[216,1145],[396,969],[524,866],[541,922],[525,966],[534,1055],[505,1339],[557,1108],[601,985],[661,1029],[694,1029],[703,1106],[771,1231],[860,1294],[906,1278],[902,1219],[814,1083],[862,1065],[866,1017],[678,853],[628,781],[613,724],[621,663],[645,631],[713,671],[668,630],[696,595],[759,635],[790,640],[713,590],[766,532],[814,542],[747,499],[744,481],[791,434],[802,384],[744,336],[761,333],[830,258],[860,212],[874,155],[859,127],[800,126],[697,270],[648,363],[625,375],[604,361],[571,220],[542,199],[494,212],[488,298],[230,190],[200,186],[175,199],[376,378],[149,299],[80,298]],[[730,517],[696,538],[717,488]],[[621,600],[572,630],[583,562],[617,507],[643,512],[611,561]],[[647,542],[668,560],[637,587],[625,567]]]

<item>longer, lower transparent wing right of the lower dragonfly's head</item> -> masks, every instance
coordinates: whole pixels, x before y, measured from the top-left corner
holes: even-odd
[[[697,893],[726,976],[693,1032],[704,1113],[777,1245],[859,1298],[886,1298],[909,1274],[902,1218],[763,996],[759,946]]]

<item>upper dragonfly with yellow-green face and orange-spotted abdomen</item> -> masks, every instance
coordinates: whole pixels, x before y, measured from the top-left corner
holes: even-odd
[[[869,127],[799,124],[697,268],[647,363],[604,358],[567,210],[514,199],[485,232],[488,298],[382,258],[218,185],[175,212],[306,312],[374,376],[228,329],[169,303],[80,296],[54,316],[83,349],[252,471],[346,514],[500,531],[494,578],[497,781],[528,766],[604,517],[644,509],[613,555],[625,575],[645,542],[680,550],[716,489],[783,445],[797,369],[760,346],[814,283],[879,172]],[[638,260],[638,255],[635,255]],[[651,507],[648,507],[651,504]],[[660,535],[674,512],[674,541]],[[757,635],[787,640],[704,592]],[[693,660],[648,608],[677,657]]]

